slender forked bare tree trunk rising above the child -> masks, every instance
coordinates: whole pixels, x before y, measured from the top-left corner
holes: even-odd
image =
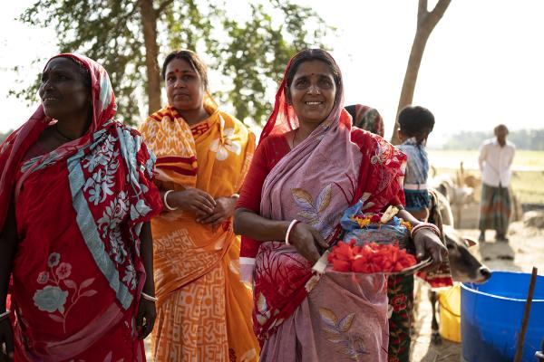
[[[427,44],[427,40],[432,33],[432,29],[434,29],[434,26],[436,26],[440,19],[442,19],[442,15],[448,8],[448,5],[450,5],[451,1],[452,0],[439,0],[436,6],[434,6],[434,10],[432,10],[432,12],[427,11],[427,0],[419,1],[417,29],[413,38],[412,50],[410,51],[410,58],[408,59],[406,73],[404,74],[403,90],[401,91],[401,97],[397,107],[397,116],[404,107],[412,104],[413,90],[415,90],[415,83],[417,81],[417,74],[422,63],[425,45]],[[391,137],[391,142],[393,145],[400,143],[397,136],[398,127],[397,117],[395,117],[393,135]]]

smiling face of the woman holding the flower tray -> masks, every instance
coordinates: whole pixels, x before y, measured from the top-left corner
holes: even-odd
[[[308,61],[298,66],[287,95],[300,123],[321,123],[335,105],[336,84],[325,62]]]

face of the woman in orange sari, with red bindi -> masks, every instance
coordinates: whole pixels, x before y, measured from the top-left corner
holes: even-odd
[[[166,66],[166,96],[176,110],[199,110],[204,99],[204,85],[198,71],[184,59],[173,59]]]

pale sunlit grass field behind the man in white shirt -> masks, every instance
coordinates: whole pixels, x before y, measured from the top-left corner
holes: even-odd
[[[429,150],[432,167],[438,173],[465,173],[480,176],[478,151]],[[512,190],[522,204],[544,204],[544,151],[516,151],[512,166]]]

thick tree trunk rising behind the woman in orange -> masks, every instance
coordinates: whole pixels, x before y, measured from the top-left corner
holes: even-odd
[[[147,73],[148,114],[160,110],[160,71],[157,58],[157,19],[159,12],[153,8],[152,0],[140,0],[143,42],[145,44],[145,66]]]

